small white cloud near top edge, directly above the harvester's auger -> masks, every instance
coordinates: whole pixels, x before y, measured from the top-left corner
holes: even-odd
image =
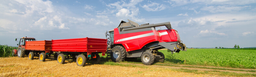
[[[151,2],[151,1],[150,1]],[[146,11],[161,11],[164,10],[166,7],[164,4],[158,4],[151,2],[150,4],[145,4],[142,6]]]

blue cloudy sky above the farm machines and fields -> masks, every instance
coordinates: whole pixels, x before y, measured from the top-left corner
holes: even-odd
[[[102,38],[127,19],[170,22],[187,47],[256,47],[255,0],[1,0],[0,44]],[[164,28],[162,28],[164,29]]]

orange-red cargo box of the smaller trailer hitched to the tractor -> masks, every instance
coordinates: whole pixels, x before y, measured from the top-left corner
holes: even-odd
[[[25,49],[45,51],[45,53],[49,53],[49,51],[52,51],[51,45],[52,45],[52,41],[48,41],[48,40],[26,41]]]

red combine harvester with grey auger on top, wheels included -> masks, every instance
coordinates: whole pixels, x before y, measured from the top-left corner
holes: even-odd
[[[121,21],[114,30],[106,32],[108,38],[107,56],[114,62],[123,61],[127,57],[141,58],[145,65],[154,61],[163,62],[165,55],[159,49],[167,48],[168,52],[186,51],[185,44],[180,40],[170,22],[157,24],[141,24],[128,20]],[[155,27],[165,26],[166,30],[156,30]]]

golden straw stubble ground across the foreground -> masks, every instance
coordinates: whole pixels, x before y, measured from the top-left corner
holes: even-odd
[[[97,76],[97,77],[214,77],[214,74],[195,74],[178,72],[168,66],[151,65],[153,68],[139,67],[122,67],[101,64],[88,64],[85,67],[77,66],[72,60],[66,60],[66,64],[58,64],[56,60],[46,59],[45,62],[39,61],[38,57],[34,60],[29,60],[27,57],[18,58],[6,57],[0,58],[0,76]],[[143,64],[139,64],[143,65]],[[164,68],[163,68],[164,67]],[[167,69],[168,67],[168,69]],[[174,68],[174,67],[173,67]],[[179,69],[179,68],[177,68]]]

